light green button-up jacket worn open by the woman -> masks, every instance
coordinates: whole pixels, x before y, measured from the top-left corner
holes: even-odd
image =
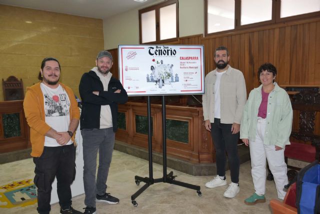
[[[262,85],[253,89],[244,106],[240,139],[255,140],[258,109],[262,100]],[[288,94],[285,90],[274,83],[274,89],[269,93],[266,113],[266,127],[263,144],[277,145],[284,148],[290,144],[289,136],[292,128],[292,107]]]

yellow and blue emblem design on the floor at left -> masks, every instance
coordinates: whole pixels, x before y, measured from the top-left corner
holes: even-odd
[[[36,187],[32,179],[13,181],[0,186],[0,207],[27,206],[36,201]]]

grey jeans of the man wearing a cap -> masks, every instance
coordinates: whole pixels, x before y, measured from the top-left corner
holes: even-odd
[[[103,195],[112,158],[114,132],[105,129],[82,129],[84,204],[95,207],[96,194]],[[96,155],[99,150],[99,166],[95,181]]]

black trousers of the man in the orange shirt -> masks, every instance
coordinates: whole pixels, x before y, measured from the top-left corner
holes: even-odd
[[[56,191],[59,204],[62,208],[71,205],[70,185],[75,177],[75,147],[73,144],[66,146],[44,146],[40,157],[33,157],[35,164],[34,184],[37,187],[37,200],[39,213],[50,212],[52,182],[56,176]]]

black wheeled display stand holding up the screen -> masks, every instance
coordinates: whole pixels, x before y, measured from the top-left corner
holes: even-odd
[[[171,183],[179,186],[183,186],[186,188],[196,190],[196,193],[201,196],[202,193],[200,191],[200,186],[192,185],[189,183],[184,183],[175,180],[173,172],[166,174],[166,128],[165,128],[165,100],[164,96],[162,96],[162,139],[163,139],[163,177],[162,178],[155,178],[153,179],[153,172],[152,172],[152,133],[151,133],[151,102],[150,96],[147,97],[147,118],[148,118],[148,153],[149,153],[149,177],[140,177],[135,175],[135,184],[139,185],[141,181],[145,184],[137,190],[134,194],[131,195],[131,202],[134,207],[138,204],[134,200],[137,196],[139,196],[147,187],[152,185],[153,183]]]

